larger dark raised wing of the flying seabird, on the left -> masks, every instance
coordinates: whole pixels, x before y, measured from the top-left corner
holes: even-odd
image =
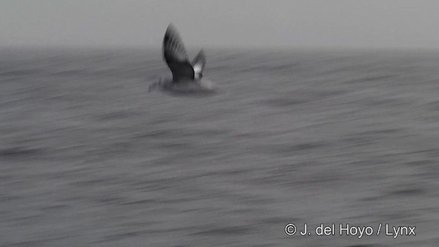
[[[193,67],[187,57],[185,45],[172,24],[167,27],[165,38],[163,38],[163,58],[171,69],[174,82],[193,80]]]

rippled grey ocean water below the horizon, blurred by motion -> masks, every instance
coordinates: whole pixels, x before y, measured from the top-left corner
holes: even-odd
[[[160,52],[0,50],[0,246],[439,246],[439,52]]]

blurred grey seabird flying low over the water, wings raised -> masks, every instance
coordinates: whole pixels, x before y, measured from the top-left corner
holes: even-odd
[[[185,45],[174,25],[169,24],[163,38],[163,59],[171,70],[172,79],[160,79],[150,86],[154,89],[171,91],[209,91],[213,90],[212,82],[202,80],[202,71],[206,64],[206,56],[201,49],[192,62],[189,62]]]

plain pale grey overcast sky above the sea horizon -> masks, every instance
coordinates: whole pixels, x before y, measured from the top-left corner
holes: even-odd
[[[439,49],[438,0],[0,0],[0,45]]]

